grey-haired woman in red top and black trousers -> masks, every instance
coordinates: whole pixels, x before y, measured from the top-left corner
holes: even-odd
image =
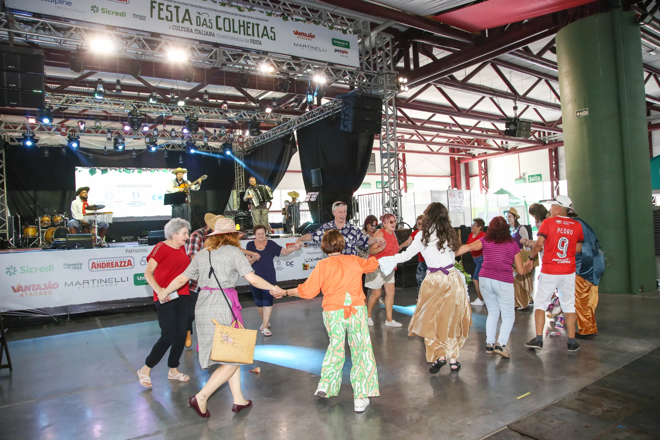
[[[183,344],[188,333],[188,307],[190,291],[188,284],[177,290],[178,299],[164,303],[158,301],[158,293],[170,285],[170,282],[190,264],[190,257],[185,253],[185,241],[188,239],[190,224],[183,218],[172,218],[165,224],[165,241],[154,246],[147,256],[145,278],[154,290],[154,301],[158,312],[160,339],[151,349],[145,366],[137,371],[143,387],[151,388],[151,369],[162,359],[170,349],[167,365],[170,367],[167,378],[172,381],[187,382],[190,377],[178,370],[179,358],[183,352]],[[168,297],[169,298],[169,297]]]

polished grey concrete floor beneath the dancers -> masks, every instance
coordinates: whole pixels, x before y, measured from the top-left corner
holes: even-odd
[[[407,306],[414,303],[414,289],[397,290],[395,303],[395,319],[403,328],[383,327],[383,309],[374,314],[371,336],[381,396],[362,414],[353,411],[347,377],[339,396],[313,396],[327,347],[320,298],[275,305],[273,336],[257,336],[255,365],[261,373],[242,367],[243,391],[254,407],[233,414],[224,385],[209,401],[208,420],[195,415],[186,402],[209,377],[199,367],[194,341],[180,365],[191,375],[189,383],[167,380],[166,358],[152,369],[153,389],[137,382],[135,370],[160,334],[152,312],[13,329],[9,347],[14,371],[0,371],[0,439],[476,440],[496,431],[490,438],[522,439],[529,437],[510,428],[523,423],[525,416],[613,371],[626,372],[626,364],[653,356],[647,354],[660,346],[657,294],[601,295],[600,334],[580,340],[577,353],[566,350],[565,335],[548,337],[540,353],[525,348],[534,334],[532,311],[517,311],[509,360],[486,356],[486,309],[473,307],[474,325],[459,358],[461,371],[449,374],[449,367],[443,367],[438,375],[430,375],[422,339],[407,336],[412,314]],[[246,327],[256,329],[256,309],[248,303],[244,307]],[[626,374],[614,383],[625,380],[625,387],[645,389],[648,377]],[[531,394],[517,398],[525,393]],[[657,393],[648,398],[657,403]],[[528,435],[601,438],[601,431],[585,435],[584,429],[544,426],[544,435]]]

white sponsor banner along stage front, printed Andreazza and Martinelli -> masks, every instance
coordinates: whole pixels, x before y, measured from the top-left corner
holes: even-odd
[[[295,238],[273,239],[291,247]],[[246,241],[242,241],[245,248]],[[278,281],[307,278],[323,258],[314,243],[273,260]],[[0,310],[41,309],[116,299],[144,298],[153,290],[145,280],[153,246],[0,253]],[[237,286],[248,284],[238,278]]]

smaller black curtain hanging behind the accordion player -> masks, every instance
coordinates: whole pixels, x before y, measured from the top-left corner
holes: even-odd
[[[296,151],[298,151],[296,138],[292,134],[255,148],[253,152],[244,158],[246,164],[245,186],[248,187],[249,185],[249,177],[254,176],[257,178],[259,185],[268,185],[271,189],[277,188]],[[247,210],[248,202],[243,200],[243,195],[241,195],[240,200],[241,208]]]

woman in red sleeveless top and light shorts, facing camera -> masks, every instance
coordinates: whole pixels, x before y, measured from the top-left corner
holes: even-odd
[[[378,243],[376,243],[372,245],[369,250],[369,253],[376,257],[376,259],[397,255],[397,253],[399,253],[399,241],[397,241],[397,236],[394,234],[394,230],[397,228],[397,218],[393,216],[393,214],[384,214],[380,218],[380,221],[383,224],[383,229],[376,231],[374,237],[383,237],[385,239],[385,247],[379,247]],[[403,324],[397,323],[397,321],[392,319],[392,306],[394,305],[394,271],[385,276],[380,270],[380,267],[376,269],[375,272],[366,274],[366,277],[364,278],[364,286],[372,289],[372,294],[367,303],[368,324],[370,326],[374,325],[371,315],[374,307],[376,307],[378,298],[380,298],[380,289],[383,285],[385,286],[385,325],[387,327],[401,327]]]

